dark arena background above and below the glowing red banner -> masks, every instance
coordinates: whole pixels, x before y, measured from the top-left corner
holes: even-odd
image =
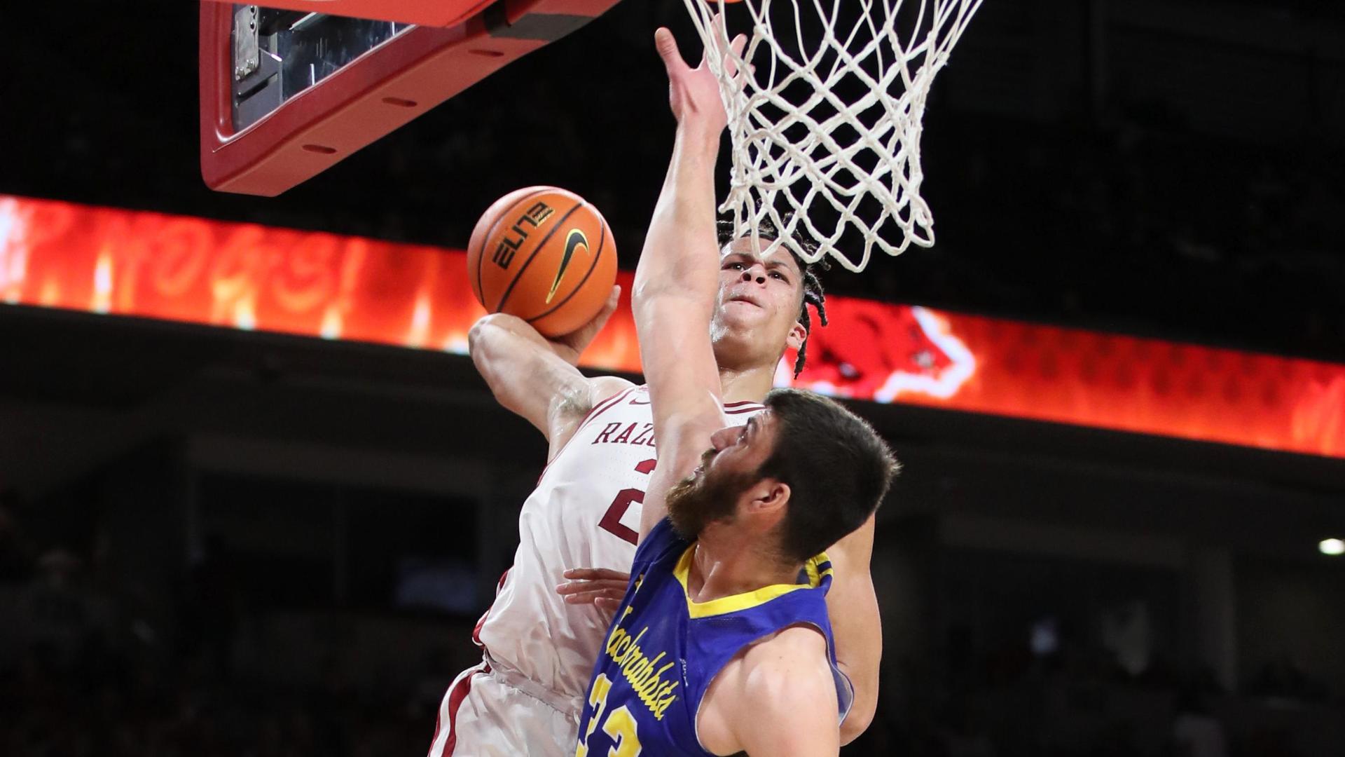
[[[633,267],[671,135],[651,32],[694,48],[683,16],[627,0],[265,199],[200,182],[194,3],[15,7],[0,193],[460,246],[553,183]],[[1345,361],[1340,4],[986,0],[925,127],[937,245],[829,291]],[[0,327],[0,752],[428,746],[545,457],[465,361]],[[907,474],[846,754],[1340,754],[1340,462],[858,409]]]

